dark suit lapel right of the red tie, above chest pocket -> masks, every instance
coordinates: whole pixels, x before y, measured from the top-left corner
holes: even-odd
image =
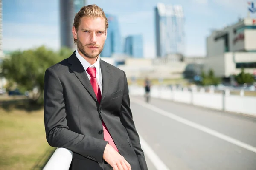
[[[103,99],[105,98],[107,91],[108,91],[108,87],[109,84],[111,82],[111,71],[108,68],[108,66],[105,64],[104,61],[102,61],[100,59],[100,68],[101,68],[101,72],[102,72],[102,84],[103,84],[103,89],[102,89],[102,99],[101,99],[101,103],[103,101]]]

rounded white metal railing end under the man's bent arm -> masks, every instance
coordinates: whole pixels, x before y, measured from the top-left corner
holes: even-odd
[[[69,170],[73,152],[63,147],[58,147],[43,170]]]

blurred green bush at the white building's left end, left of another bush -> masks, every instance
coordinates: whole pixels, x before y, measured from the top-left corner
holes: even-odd
[[[209,70],[208,75],[204,71],[201,71],[201,85],[218,85],[221,82],[221,79],[215,77],[214,71]]]

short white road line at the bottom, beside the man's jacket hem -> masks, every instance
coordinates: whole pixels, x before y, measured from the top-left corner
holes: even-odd
[[[140,136],[140,135],[139,135]],[[145,142],[145,140],[140,136],[140,144],[144,153],[148,156],[148,159],[154,164],[157,170],[169,170],[169,168],[161,161],[161,159],[157,156],[154,150]]]

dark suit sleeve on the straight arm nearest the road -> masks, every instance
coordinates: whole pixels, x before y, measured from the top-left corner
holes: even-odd
[[[148,167],[145,161],[144,152],[141,149],[140,138],[135,128],[131,109],[130,109],[130,97],[129,97],[129,89],[128,89],[126,74],[124,71],[122,72],[124,73],[125,87],[124,87],[123,98],[122,98],[120,119],[121,119],[122,125],[124,125],[128,133],[129,138],[131,139],[131,144],[133,145],[134,151],[137,154],[138,160],[140,162],[141,170],[148,170]]]

